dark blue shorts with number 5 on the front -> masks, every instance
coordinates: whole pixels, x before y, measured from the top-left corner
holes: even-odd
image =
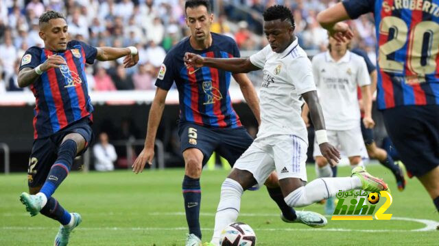
[[[203,165],[215,151],[233,166],[244,151],[250,147],[253,138],[246,128],[209,128],[190,122],[178,125],[181,152],[188,148],[197,148],[204,155]]]

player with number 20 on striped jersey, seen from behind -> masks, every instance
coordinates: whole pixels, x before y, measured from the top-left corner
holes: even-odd
[[[377,29],[377,105],[410,176],[439,211],[439,0],[344,0],[318,14],[337,39],[346,23],[372,12]]]

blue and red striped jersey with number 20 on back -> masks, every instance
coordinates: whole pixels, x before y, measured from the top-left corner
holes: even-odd
[[[344,0],[351,18],[373,12],[377,105],[439,105],[439,0]]]

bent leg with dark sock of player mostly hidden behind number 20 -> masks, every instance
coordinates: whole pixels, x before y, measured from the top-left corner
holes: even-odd
[[[382,148],[378,148],[375,141],[370,144],[366,144],[366,150],[368,151],[368,156],[371,159],[377,159],[382,165],[392,171],[392,174],[396,178],[396,185],[398,186],[398,189],[403,191],[406,184],[403,168],[394,163],[392,157],[388,155],[388,152]]]

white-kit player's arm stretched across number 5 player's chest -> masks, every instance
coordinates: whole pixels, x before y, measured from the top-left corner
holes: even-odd
[[[194,53],[185,54],[185,64],[188,67],[200,68],[202,66],[208,66],[234,73],[247,73],[261,69],[254,66],[250,62],[250,58],[210,58],[202,57]]]

